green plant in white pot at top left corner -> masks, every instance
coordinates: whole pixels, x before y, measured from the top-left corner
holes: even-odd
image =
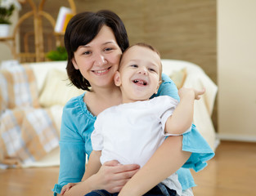
[[[17,0],[0,0],[0,37],[7,37],[11,25],[11,15],[15,8],[20,9]]]

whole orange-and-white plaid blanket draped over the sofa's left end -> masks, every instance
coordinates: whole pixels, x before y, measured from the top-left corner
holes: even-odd
[[[29,65],[0,70],[0,163],[29,163],[58,146],[50,109],[40,108]]]

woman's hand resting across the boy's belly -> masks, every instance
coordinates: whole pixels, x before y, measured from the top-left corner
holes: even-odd
[[[117,193],[137,173],[139,168],[140,166],[137,164],[121,165],[115,160],[106,162],[94,175],[98,183],[93,189],[106,189],[110,193]]]

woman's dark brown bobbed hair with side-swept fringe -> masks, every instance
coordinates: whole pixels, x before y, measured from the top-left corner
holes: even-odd
[[[83,78],[83,75],[78,69],[74,68],[72,59],[74,58],[74,51],[80,46],[84,46],[91,42],[93,38],[100,32],[101,27],[106,25],[110,27],[114,34],[116,42],[118,43],[122,52],[129,47],[128,35],[124,27],[123,21],[113,11],[85,11],[79,13],[71,18],[65,30],[65,49],[68,53],[67,73],[70,81],[75,87],[90,91],[91,87],[88,80]]]

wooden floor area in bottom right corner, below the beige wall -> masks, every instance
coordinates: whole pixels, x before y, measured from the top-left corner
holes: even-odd
[[[209,165],[192,175],[196,196],[256,195],[256,144],[223,141]]]

